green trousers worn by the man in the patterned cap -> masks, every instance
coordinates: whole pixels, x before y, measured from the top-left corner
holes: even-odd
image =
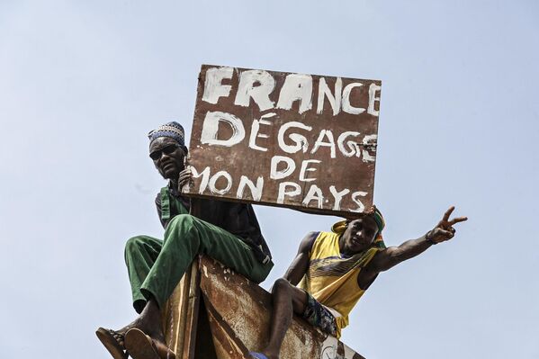
[[[179,214],[168,223],[164,240],[137,236],[127,241],[125,263],[135,310],[142,311],[150,296],[162,308],[199,254],[217,259],[255,283],[264,281],[274,266],[271,261],[258,262],[251,247],[225,229]]]

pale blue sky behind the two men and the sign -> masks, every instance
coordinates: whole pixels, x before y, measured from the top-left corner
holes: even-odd
[[[536,1],[0,0],[2,358],[108,358],[123,246],[161,237],[148,130],[190,133],[202,63],[382,80],[389,245],[455,204],[453,241],[380,275],[344,330],[368,358],[538,358]],[[336,219],[256,207],[281,276]]]

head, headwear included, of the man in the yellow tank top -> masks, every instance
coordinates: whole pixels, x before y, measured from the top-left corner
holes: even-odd
[[[341,229],[344,232],[339,239],[341,251],[353,255],[372,247],[375,240],[381,238],[384,226],[382,213],[374,206],[371,211],[365,212],[359,218],[346,220],[344,229]]]

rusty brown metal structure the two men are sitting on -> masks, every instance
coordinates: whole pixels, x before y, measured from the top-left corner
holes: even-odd
[[[269,337],[271,295],[214,259],[201,256],[163,312],[166,342],[182,359],[243,359]],[[283,359],[361,359],[362,355],[294,318]]]

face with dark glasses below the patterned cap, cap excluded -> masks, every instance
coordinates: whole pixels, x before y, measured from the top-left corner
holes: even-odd
[[[149,156],[165,179],[176,180],[184,170],[184,149],[169,137],[158,137],[149,145]]]

